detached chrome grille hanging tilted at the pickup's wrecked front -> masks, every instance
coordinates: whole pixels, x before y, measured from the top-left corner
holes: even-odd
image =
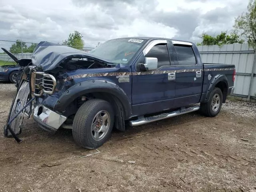
[[[23,81],[22,85],[20,86],[20,89],[18,90],[16,98],[14,100],[12,111],[8,121],[12,119],[20,111],[20,109],[22,109],[26,105],[28,101],[29,93],[30,93],[29,82]],[[10,123],[10,128],[12,128],[15,134],[20,134],[21,132],[20,125],[22,124],[24,111],[25,110],[23,110],[20,114],[18,114],[18,116]],[[9,130],[6,136],[11,136],[11,133]]]

